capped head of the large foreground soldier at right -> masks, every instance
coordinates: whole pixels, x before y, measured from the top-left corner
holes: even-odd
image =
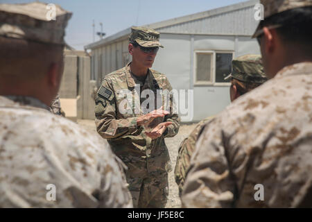
[[[312,61],[312,0],[261,0],[257,37],[268,78],[287,65]]]

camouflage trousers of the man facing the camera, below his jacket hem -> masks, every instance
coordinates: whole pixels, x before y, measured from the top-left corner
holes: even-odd
[[[128,175],[127,182],[133,207],[164,208],[168,198],[168,173],[146,173],[144,176]]]

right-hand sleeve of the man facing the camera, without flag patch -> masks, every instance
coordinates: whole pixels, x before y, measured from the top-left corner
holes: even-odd
[[[171,92],[172,87],[171,84],[168,81],[168,78],[166,78],[166,85],[168,87],[169,92]],[[166,115],[164,121],[165,122],[172,122],[170,126],[167,126],[167,133],[164,135],[164,137],[174,137],[179,132],[180,128],[180,117],[177,114],[177,108],[176,104],[173,98],[173,95],[170,95],[170,114]]]

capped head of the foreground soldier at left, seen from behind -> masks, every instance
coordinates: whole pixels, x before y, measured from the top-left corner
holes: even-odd
[[[33,96],[50,105],[64,68],[71,12],[41,2],[0,4],[0,94]]]

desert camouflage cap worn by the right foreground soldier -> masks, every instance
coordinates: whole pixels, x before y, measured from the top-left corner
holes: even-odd
[[[260,3],[264,8],[264,19],[270,17],[271,15],[275,15],[286,10],[291,10],[293,8],[312,6],[312,0],[261,0]],[[276,24],[271,28],[278,28],[281,26],[283,26],[283,24]],[[257,37],[261,33],[263,33],[263,31],[259,24],[252,37]]]

